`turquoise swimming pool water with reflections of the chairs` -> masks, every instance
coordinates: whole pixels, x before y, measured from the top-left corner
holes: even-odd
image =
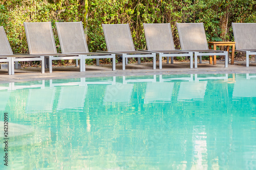
[[[0,84],[8,169],[256,169],[255,86],[253,74]]]

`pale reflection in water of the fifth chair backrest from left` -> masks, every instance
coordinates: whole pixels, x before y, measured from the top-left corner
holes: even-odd
[[[144,103],[162,103],[172,100],[174,83],[147,83]]]

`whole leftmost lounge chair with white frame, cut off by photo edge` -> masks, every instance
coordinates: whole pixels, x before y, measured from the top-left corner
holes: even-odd
[[[0,27],[0,62],[7,62],[8,74],[14,75],[14,62],[18,61],[41,61],[41,73],[45,72],[44,56],[13,55],[4,27],[2,26]]]

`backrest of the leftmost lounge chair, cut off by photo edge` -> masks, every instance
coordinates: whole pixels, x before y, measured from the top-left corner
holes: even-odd
[[[0,55],[12,55],[12,48],[6,36],[4,27],[0,27]]]

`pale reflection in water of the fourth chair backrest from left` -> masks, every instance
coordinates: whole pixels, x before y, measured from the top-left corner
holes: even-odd
[[[114,103],[129,104],[134,84],[121,84],[106,86],[103,105],[113,105]]]

